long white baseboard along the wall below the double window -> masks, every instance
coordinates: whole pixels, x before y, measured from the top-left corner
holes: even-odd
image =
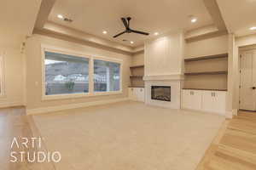
[[[92,102],[79,103],[79,104],[58,105],[58,106],[51,106],[51,107],[44,107],[44,108],[37,108],[37,109],[26,109],[26,115],[43,114],[48,112],[63,111],[63,110],[81,108],[81,107],[89,107],[94,105],[106,105],[106,104],[117,103],[117,102],[126,101],[126,100],[129,100],[129,99],[128,98],[108,99],[108,100],[92,101]]]

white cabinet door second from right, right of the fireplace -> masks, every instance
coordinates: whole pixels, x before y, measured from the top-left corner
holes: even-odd
[[[202,92],[202,111],[214,111],[215,105],[213,104],[213,92],[212,91],[203,91]]]

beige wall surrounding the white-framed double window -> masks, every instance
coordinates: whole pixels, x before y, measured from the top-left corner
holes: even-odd
[[[123,59],[123,94],[91,96],[73,99],[42,100],[42,56],[41,43],[57,48],[67,48],[83,54],[99,55]],[[117,54],[103,50],[67,42],[53,37],[33,35],[26,42],[26,106],[27,109],[44,108],[58,105],[86,103],[106,99],[119,99],[127,97],[127,87],[130,85],[131,56]]]

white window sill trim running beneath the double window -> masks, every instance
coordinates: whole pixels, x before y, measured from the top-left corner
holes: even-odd
[[[76,99],[84,97],[102,96],[102,95],[117,95],[123,94],[122,91],[117,92],[95,92],[93,94],[55,94],[55,95],[43,95],[42,100],[55,100],[55,99]]]

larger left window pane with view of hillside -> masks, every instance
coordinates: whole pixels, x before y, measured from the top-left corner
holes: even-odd
[[[45,95],[89,92],[89,59],[45,51]]]

